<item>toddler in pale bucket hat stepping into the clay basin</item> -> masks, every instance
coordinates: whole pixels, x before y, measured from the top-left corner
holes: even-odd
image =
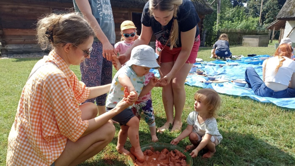
[[[114,58],[116,59],[116,58]],[[119,63],[118,59],[117,63]],[[115,74],[110,92],[108,94],[106,109],[112,110],[116,107],[117,103],[122,100],[124,96],[124,87],[127,91],[132,91],[141,97],[148,93],[159,82],[158,78],[152,77],[147,85],[144,86],[145,75],[149,70],[159,69],[155,51],[148,45],[138,45],[132,49],[130,60],[126,62],[121,69]],[[136,156],[137,160],[143,161],[144,154],[141,151],[139,144],[139,119],[133,114],[131,106],[123,110],[112,118],[112,120],[119,122],[120,131],[118,134],[118,143],[116,150],[124,155],[129,155],[129,151],[124,148],[127,136],[130,140],[132,148],[131,153]]]

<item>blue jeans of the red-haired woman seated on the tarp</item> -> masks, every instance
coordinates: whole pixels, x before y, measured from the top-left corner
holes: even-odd
[[[292,98],[295,97],[295,89],[287,88],[281,91],[273,91],[268,88],[253,67],[247,67],[245,80],[249,88],[252,88],[255,95],[272,98]]]

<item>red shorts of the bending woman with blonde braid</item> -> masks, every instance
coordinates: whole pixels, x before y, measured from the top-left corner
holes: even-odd
[[[201,42],[200,35],[198,35],[195,38],[193,48],[191,49],[191,54],[185,63],[196,63],[196,57],[198,56],[200,42]],[[156,47],[159,47],[160,49],[162,49],[161,63],[176,61],[176,59],[181,51],[181,47],[173,47],[173,49],[171,50],[170,47],[168,47],[168,46],[164,47],[164,46],[165,45],[162,45],[161,42],[156,41]],[[164,47],[164,49],[163,49],[163,47]]]

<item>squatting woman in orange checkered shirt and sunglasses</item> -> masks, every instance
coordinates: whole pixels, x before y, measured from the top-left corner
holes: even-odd
[[[93,30],[76,14],[50,14],[37,23],[42,49],[22,90],[8,137],[6,165],[77,165],[100,152],[113,139],[110,119],[131,106],[135,92],[125,91],[116,108],[96,117],[86,99],[108,93],[109,85],[88,88],[70,70],[90,57]]]

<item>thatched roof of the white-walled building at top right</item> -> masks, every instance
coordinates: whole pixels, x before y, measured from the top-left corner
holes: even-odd
[[[295,0],[287,0],[277,14],[278,20],[293,21],[295,20]]]

